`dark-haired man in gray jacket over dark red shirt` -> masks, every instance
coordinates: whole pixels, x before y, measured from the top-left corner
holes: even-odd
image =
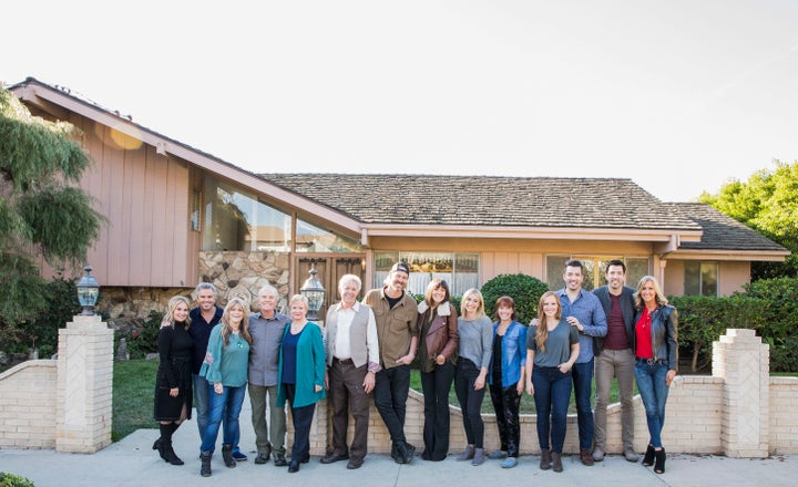
[[[630,462],[637,462],[634,450],[634,292],[624,286],[626,266],[622,260],[611,260],[606,267],[607,286],[593,291],[601,301],[607,318],[607,334],[593,340],[595,353],[596,405],[593,460],[601,462],[606,453],[606,406],[613,377],[618,381],[621,396],[621,439],[623,454]]]

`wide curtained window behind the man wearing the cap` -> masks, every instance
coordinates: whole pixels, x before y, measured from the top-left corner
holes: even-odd
[[[408,292],[423,294],[432,279],[443,279],[449,283],[452,296],[462,296],[470,288],[479,288],[479,253],[454,252],[375,252],[374,287],[381,288],[398,261],[410,267]]]

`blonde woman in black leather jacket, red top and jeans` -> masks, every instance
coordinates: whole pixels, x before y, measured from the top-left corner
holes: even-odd
[[[648,447],[643,465],[654,465],[656,474],[665,472],[665,448],[662,429],[665,424],[665,403],[668,387],[678,366],[678,319],[676,308],[668,304],[659,282],[644,276],[634,294],[635,315],[635,382],[643,400],[648,423]]]

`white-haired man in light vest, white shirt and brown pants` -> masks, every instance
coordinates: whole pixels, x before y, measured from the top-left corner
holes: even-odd
[[[368,449],[369,397],[380,371],[377,322],[371,308],[357,302],[362,282],[355,274],[341,277],[341,300],[327,310],[325,354],[332,403],[332,450],[323,464],[349,459],[347,468],[360,468]],[[347,449],[349,405],[355,418],[351,448]]]

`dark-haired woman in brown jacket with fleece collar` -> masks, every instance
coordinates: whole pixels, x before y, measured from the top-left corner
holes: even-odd
[[[449,284],[433,279],[418,305],[419,369],[424,396],[424,452],[421,458],[440,462],[449,453],[449,391],[457,364],[457,311],[449,302]]]

